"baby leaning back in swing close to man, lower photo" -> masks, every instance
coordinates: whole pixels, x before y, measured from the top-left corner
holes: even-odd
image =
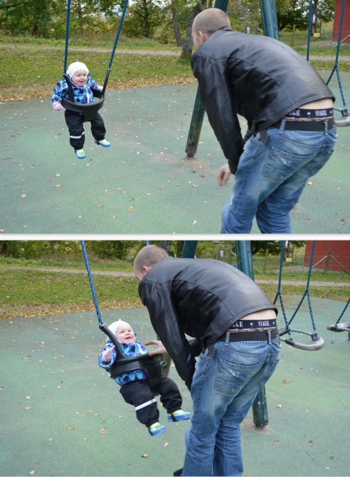
[[[136,334],[130,324],[118,320],[108,326],[109,330],[121,343],[123,353],[126,356],[147,353],[146,348],[136,340]],[[99,365],[107,371],[117,359],[115,345],[107,338],[107,344],[99,356]],[[115,378],[115,382],[121,386],[120,393],[124,401],[135,406],[136,417],[148,427],[151,436],[157,436],[166,431],[166,427],[158,422],[159,411],[145,373],[140,369],[124,373]],[[181,409],[182,397],[175,382],[166,376],[161,376],[157,389],[160,401],[168,412],[168,420],[178,421],[190,419],[191,414]]]

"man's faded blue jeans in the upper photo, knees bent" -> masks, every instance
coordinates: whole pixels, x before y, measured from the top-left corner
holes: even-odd
[[[263,144],[257,133],[245,143],[221,233],[249,233],[254,216],[262,233],[291,233],[289,212],[331,157],[337,134],[269,128],[267,137]]]

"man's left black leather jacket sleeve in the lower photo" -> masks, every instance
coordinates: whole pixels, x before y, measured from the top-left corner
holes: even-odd
[[[157,336],[173,360],[178,375],[191,390],[195,359],[190,343],[179,324],[171,296],[164,288],[150,280],[140,282],[139,292],[140,296],[144,297],[143,304],[147,306]]]

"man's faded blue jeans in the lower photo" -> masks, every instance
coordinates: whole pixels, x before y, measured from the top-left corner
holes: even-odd
[[[214,343],[196,363],[183,476],[241,476],[240,424],[279,362],[279,338]]]

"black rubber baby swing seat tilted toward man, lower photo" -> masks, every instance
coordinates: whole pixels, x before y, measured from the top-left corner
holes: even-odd
[[[167,367],[164,355],[150,356],[149,353],[145,353],[135,356],[126,356],[113,333],[103,324],[100,324],[100,328],[115,345],[117,351],[117,359],[109,368],[109,377],[114,379],[124,373],[141,369],[147,377],[148,385],[153,394],[157,396],[157,390],[159,389],[160,379],[163,374],[162,371]]]

